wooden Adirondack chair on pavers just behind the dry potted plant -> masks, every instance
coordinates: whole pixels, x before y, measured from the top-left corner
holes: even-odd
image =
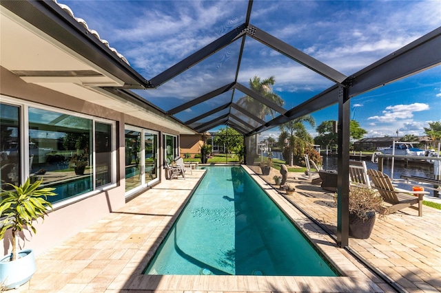
[[[422,216],[422,197],[429,194],[427,191],[407,191],[405,189],[396,188],[392,185],[388,175],[378,170],[369,169],[367,175],[372,180],[373,185],[378,190],[384,202],[391,204],[389,211],[391,213],[401,210],[402,208],[413,208],[418,210],[418,217]],[[417,194],[418,197],[410,195]],[[413,206],[418,204],[418,206]]]

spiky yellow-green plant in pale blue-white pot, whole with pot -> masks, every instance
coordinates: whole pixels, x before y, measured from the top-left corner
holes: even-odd
[[[48,215],[48,208],[52,205],[46,199],[55,188],[39,188],[43,179],[30,183],[29,178],[21,186],[12,186],[12,190],[0,193],[0,217],[1,222],[0,239],[5,238],[6,232],[10,230],[12,242],[11,254],[0,259],[0,283],[6,290],[17,288],[23,285],[32,277],[35,272],[34,252],[32,250],[21,250],[17,252],[19,235],[23,230],[28,230],[31,235],[36,233],[34,220],[44,219]],[[24,238],[25,239],[25,238]]]

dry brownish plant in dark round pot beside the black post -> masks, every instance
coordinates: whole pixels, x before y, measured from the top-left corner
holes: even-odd
[[[337,202],[337,195],[334,195]],[[387,214],[383,199],[373,188],[351,186],[349,188],[349,235],[358,239],[371,236],[376,214],[382,218]]]

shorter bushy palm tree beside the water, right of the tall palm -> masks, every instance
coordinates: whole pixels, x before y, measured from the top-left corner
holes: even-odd
[[[288,142],[289,166],[294,164],[294,155],[302,156],[305,153],[307,144],[314,142],[311,135],[306,131],[304,122],[308,122],[311,127],[316,127],[316,120],[311,115],[296,118],[279,126],[279,142]]]

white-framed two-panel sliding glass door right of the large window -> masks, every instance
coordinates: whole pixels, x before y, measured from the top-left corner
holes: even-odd
[[[130,195],[158,178],[158,133],[125,127],[125,191]]]

